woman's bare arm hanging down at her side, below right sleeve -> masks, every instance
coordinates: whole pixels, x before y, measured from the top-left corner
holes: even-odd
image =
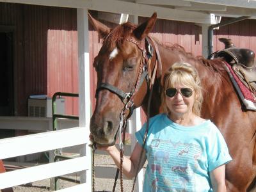
[[[225,184],[225,164],[218,166],[218,168],[210,172],[212,189],[214,192],[226,192]]]

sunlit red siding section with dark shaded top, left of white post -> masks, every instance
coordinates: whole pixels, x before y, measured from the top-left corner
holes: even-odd
[[[76,9],[49,8],[47,93],[78,93]],[[78,99],[66,97],[66,113],[78,115]]]

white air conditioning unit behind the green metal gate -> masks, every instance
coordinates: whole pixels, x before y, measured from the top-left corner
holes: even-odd
[[[65,115],[65,98],[56,98],[56,113]],[[52,117],[52,99],[49,97],[29,98],[28,116]]]

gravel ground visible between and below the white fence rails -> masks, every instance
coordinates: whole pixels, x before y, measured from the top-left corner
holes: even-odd
[[[111,159],[111,157],[108,155],[95,155],[95,166],[115,167],[115,164]],[[76,178],[76,176],[69,176],[69,177]],[[79,177],[77,177],[77,179],[79,179]],[[95,191],[98,191],[98,192],[112,191],[114,181],[115,181],[114,177],[113,179],[95,178]],[[133,180],[124,179],[124,191],[131,191],[132,184],[133,184]],[[74,185],[76,185],[74,182],[60,180],[61,189],[68,188]],[[29,184],[24,184],[21,186],[15,186],[13,187],[13,190],[14,192],[51,191],[50,179],[39,180]],[[118,179],[118,182],[116,184],[116,191],[120,191],[120,179]]]

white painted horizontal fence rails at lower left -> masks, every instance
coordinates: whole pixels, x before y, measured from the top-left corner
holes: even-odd
[[[28,136],[19,136],[0,140],[0,159],[33,154],[35,152],[44,152],[55,148],[64,148],[74,145],[86,145],[86,129],[84,127],[74,127],[60,131],[51,131]],[[33,166],[12,172],[0,173],[0,189],[26,184],[36,180],[43,180],[68,173],[90,170],[88,158],[90,152],[83,157],[68,159],[56,163]],[[79,184],[77,186],[61,189],[59,191],[84,191],[87,185]]]

